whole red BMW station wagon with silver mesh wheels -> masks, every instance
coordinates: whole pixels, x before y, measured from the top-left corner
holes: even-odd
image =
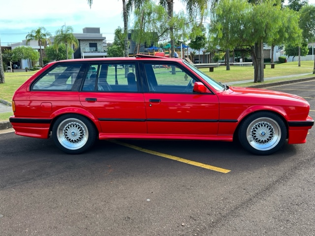
[[[10,118],[18,135],[47,139],[67,153],[98,139],[233,141],[267,155],[306,142],[314,125],[296,95],[228,87],[182,59],[73,59],[49,63],[16,90]]]

